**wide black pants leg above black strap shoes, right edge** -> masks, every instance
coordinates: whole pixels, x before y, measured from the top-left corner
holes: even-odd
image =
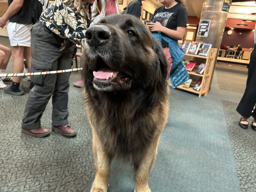
[[[236,108],[236,111],[246,118],[253,116],[256,119],[256,112],[252,113],[256,103],[256,46],[250,56],[250,64],[248,69],[248,78],[244,95]]]

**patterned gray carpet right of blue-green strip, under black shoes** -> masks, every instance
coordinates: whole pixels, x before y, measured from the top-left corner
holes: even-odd
[[[255,134],[250,128],[253,118],[250,118],[249,128],[242,129],[238,124],[239,114],[236,112],[237,103],[222,101],[230,142],[236,162],[241,191],[256,191],[256,153]]]

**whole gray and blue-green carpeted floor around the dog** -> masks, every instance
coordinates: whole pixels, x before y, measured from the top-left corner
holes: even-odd
[[[172,90],[169,121],[149,179],[152,192],[256,191],[256,132],[239,128],[236,113],[242,96],[237,88],[244,90],[247,73],[236,72],[241,66],[232,71],[221,66],[207,96]],[[12,59],[7,72],[12,72]],[[243,83],[228,89],[234,84],[225,87],[222,73],[235,78],[239,73]],[[72,72],[70,84],[79,79],[80,73]],[[231,82],[232,76],[226,80]],[[54,132],[46,138],[21,134],[27,96],[0,90],[0,192],[89,192],[95,170],[81,90],[70,86],[69,123],[78,132],[75,138]],[[50,101],[41,119],[46,128],[51,127],[51,111]],[[113,160],[108,191],[133,192],[133,175],[130,165]]]

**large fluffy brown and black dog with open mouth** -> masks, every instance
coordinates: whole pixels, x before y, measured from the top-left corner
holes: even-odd
[[[131,15],[105,17],[85,34],[84,93],[96,168],[90,192],[107,192],[113,157],[133,163],[136,192],[150,192],[148,177],[169,111],[162,46]]]

